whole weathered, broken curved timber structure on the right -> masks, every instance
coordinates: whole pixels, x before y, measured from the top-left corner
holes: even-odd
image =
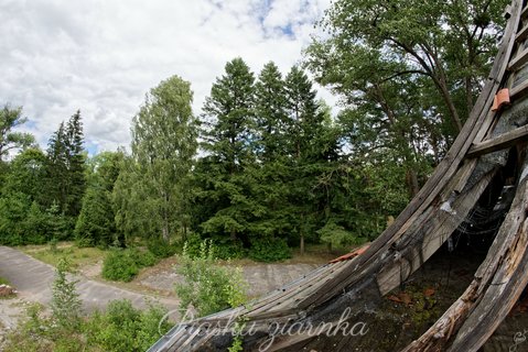
[[[247,307],[182,322],[150,351],[226,351],[233,342],[234,317],[246,323],[245,351],[378,351],[376,345],[357,344],[360,339],[351,336],[314,334],[299,328],[353,326],[365,317],[376,323],[373,311],[382,297],[420,268],[482,198],[489,198],[493,189],[515,187],[511,204],[496,207],[504,211],[505,220],[471,285],[428,331],[403,349],[477,351],[528,282],[526,1],[514,0],[507,12],[503,43],[467,122],[414,199],[364,253],[322,266]],[[511,105],[492,111],[500,89],[509,89]],[[498,198],[495,201],[498,204]],[[344,311],[348,312],[345,321]]]

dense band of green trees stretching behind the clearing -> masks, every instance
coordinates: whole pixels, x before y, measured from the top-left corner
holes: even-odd
[[[131,144],[90,156],[83,107],[43,151],[19,132],[23,107],[6,101],[0,243],[175,252],[211,239],[219,256],[277,261],[309,243],[371,241],[461,130],[506,3],[338,0],[317,24],[328,35],[288,73],[236,57],[200,112],[191,82],[168,77],[132,118]]]

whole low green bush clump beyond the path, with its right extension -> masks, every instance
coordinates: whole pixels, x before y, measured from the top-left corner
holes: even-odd
[[[106,279],[130,282],[146,266],[158,263],[158,258],[150,251],[137,248],[126,250],[110,250],[103,261],[101,275]]]

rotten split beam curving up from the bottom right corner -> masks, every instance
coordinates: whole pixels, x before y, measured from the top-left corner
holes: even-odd
[[[526,166],[525,172],[528,172]],[[405,352],[445,351],[450,339],[470,315],[477,321],[464,326],[450,351],[477,351],[493,333],[496,324],[504,319],[526,286],[527,275],[522,271],[528,268],[527,204],[528,187],[525,178],[474,280],[444,315],[418,340],[409,344]],[[483,304],[485,300],[487,304]],[[489,311],[491,308],[495,309]],[[476,329],[477,326],[481,326],[481,329]]]

